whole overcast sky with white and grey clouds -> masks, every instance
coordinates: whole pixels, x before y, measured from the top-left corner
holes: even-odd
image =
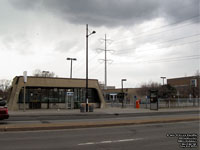
[[[89,78],[104,82],[107,35],[108,85],[138,87],[194,75],[200,68],[199,0],[0,0],[0,79],[35,69],[58,77],[85,78],[85,35]]]

